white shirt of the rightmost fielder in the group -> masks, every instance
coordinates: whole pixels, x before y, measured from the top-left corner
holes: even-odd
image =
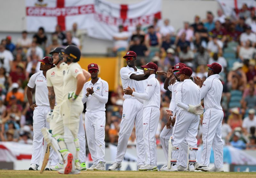
[[[222,96],[223,85],[219,80],[219,74],[209,76],[201,87],[201,99],[204,98],[204,109],[220,109],[220,100]]]

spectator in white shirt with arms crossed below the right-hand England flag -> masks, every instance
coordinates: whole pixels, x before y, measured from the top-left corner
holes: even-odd
[[[115,40],[114,48],[113,48],[114,52],[117,52],[120,49],[125,51],[126,48],[128,47],[128,39],[130,37],[129,32],[124,31],[123,25],[120,25],[118,29],[119,29],[119,32],[116,33],[113,37],[113,39]]]

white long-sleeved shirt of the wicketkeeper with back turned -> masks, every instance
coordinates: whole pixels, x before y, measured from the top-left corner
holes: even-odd
[[[201,103],[200,101],[200,88],[192,80],[185,79],[184,82],[178,85],[175,103],[181,110],[188,110],[188,104],[197,105]]]

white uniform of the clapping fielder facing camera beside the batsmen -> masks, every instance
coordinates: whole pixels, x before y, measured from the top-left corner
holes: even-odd
[[[94,93],[85,96],[87,88],[93,88]],[[108,82],[99,78],[93,85],[92,80],[84,84],[83,103],[86,102],[85,132],[88,148],[92,156],[93,164],[100,161],[105,164],[105,105],[108,102]]]

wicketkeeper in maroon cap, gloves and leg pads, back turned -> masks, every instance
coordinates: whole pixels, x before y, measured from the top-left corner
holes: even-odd
[[[192,70],[183,67],[179,72],[181,84],[178,85],[175,103],[178,110],[176,111],[176,122],[172,132],[172,159],[171,170],[177,171],[177,159],[179,157],[179,146],[185,139],[189,146],[189,171],[195,171],[196,151],[197,148],[197,129],[199,119],[203,113],[203,107],[200,104],[200,88],[190,79]]]

